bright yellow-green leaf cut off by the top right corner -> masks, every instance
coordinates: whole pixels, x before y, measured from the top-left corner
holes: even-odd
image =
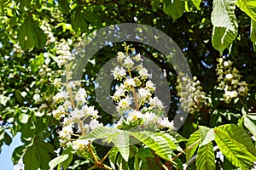
[[[254,0],[237,0],[236,5],[252,20],[256,21],[256,2]]]

